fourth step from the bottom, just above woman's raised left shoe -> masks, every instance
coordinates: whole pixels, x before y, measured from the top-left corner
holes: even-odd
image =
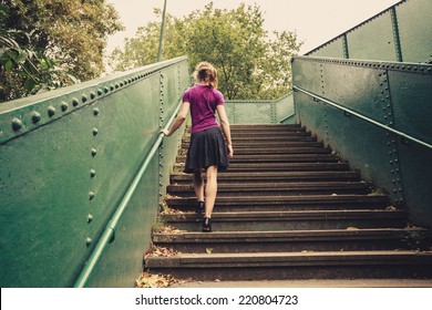
[[[167,197],[169,208],[194,210],[194,197]],[[325,209],[385,209],[387,195],[298,195],[217,197],[215,211],[325,210]]]

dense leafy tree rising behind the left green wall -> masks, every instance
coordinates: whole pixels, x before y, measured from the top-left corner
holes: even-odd
[[[0,29],[6,101],[100,76],[107,35],[123,25],[105,0],[4,0]]]

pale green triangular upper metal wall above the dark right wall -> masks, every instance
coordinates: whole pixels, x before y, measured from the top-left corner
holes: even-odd
[[[432,60],[432,2],[404,0],[306,53],[398,62]]]

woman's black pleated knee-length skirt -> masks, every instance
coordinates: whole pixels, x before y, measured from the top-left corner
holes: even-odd
[[[204,130],[191,135],[184,172],[192,174],[197,169],[218,166],[218,170],[228,168],[228,155],[220,127]]]

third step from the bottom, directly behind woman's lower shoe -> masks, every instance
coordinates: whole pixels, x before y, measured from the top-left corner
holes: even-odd
[[[162,219],[181,230],[200,231],[202,218],[195,213],[164,214]],[[302,210],[214,213],[214,231],[315,230],[407,226],[403,210]]]

